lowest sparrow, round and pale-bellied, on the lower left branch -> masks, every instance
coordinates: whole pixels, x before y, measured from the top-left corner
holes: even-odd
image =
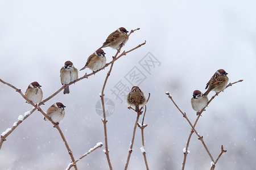
[[[65,116],[64,108],[65,106],[62,103],[57,102],[48,108],[46,114],[52,119],[53,122],[58,124],[60,121],[63,120]],[[46,117],[44,117],[44,120],[49,121],[48,118]]]

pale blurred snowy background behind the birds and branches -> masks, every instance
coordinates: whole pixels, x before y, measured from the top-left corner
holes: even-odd
[[[151,93],[144,123],[145,147],[150,169],[181,169],[183,148],[191,127],[165,92],[193,122],[196,113],[190,99],[218,69],[225,69],[230,82],[242,83],[226,89],[203,113],[197,131],[203,135],[213,158],[228,150],[216,169],[253,169],[256,166],[256,1],[0,1],[0,78],[26,91],[37,81],[43,99],[61,87],[59,71],[71,60],[81,69],[86,59],[115,29],[134,32],[122,50],[147,41],[146,45],[114,63],[105,97],[115,104],[108,117],[110,159],[114,169],[125,167],[136,113],[112,91],[136,66],[146,76],[139,86]],[[105,48],[107,62],[115,54]],[[150,73],[139,61],[150,52],[159,65]],[[95,110],[109,67],[89,79],[70,86],[71,94],[60,92],[56,101],[65,106],[60,128],[75,158],[97,142],[104,142],[101,117]],[[79,72],[79,77],[90,73]],[[214,95],[210,92],[209,96]],[[0,84],[0,133],[11,128],[20,114],[32,109],[12,88]],[[140,119],[139,122],[142,120]],[[146,169],[137,129],[129,169]],[[102,147],[82,159],[79,169],[109,169]],[[193,135],[185,169],[209,169],[210,158]],[[52,124],[36,111],[7,137],[0,151],[2,169],[65,169],[71,162],[64,143]]]

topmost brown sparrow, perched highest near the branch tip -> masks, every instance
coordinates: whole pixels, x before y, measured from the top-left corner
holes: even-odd
[[[114,49],[118,49],[120,45],[125,45],[126,41],[128,40],[128,35],[125,28],[120,27],[116,31],[110,33],[106,41],[103,43],[101,48],[105,48],[110,46]]]

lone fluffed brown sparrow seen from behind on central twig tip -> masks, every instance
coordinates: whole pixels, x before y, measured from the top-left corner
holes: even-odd
[[[133,86],[126,96],[127,104],[135,106],[135,111],[139,112],[139,106],[142,107],[147,103],[146,97],[138,86]]]

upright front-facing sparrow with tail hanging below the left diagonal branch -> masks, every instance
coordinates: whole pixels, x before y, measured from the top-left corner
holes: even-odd
[[[78,71],[71,61],[66,61],[64,66],[60,69],[61,84],[69,84],[78,78]],[[64,88],[64,94],[69,94],[69,86]]]

